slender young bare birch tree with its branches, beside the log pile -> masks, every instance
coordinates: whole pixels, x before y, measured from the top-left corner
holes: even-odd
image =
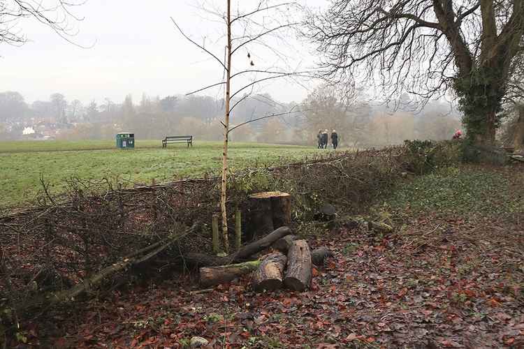
[[[214,87],[225,88],[225,115],[224,121],[221,121],[224,126],[224,147],[222,149],[222,171],[221,171],[221,218],[222,218],[222,237],[224,242],[224,248],[228,252],[228,223],[227,223],[227,211],[226,211],[226,194],[227,194],[227,174],[228,174],[228,141],[229,134],[233,131],[230,128],[231,112],[233,109],[250,98],[254,92],[257,84],[261,82],[267,82],[279,77],[298,77],[298,76],[310,76],[307,72],[300,72],[296,69],[292,69],[289,66],[285,68],[277,68],[272,66],[263,66],[263,63],[257,61],[257,55],[254,53],[257,50],[264,50],[270,52],[272,56],[277,57],[280,61],[286,61],[286,57],[282,52],[279,52],[275,46],[275,43],[268,44],[265,39],[272,38],[272,40],[284,40],[279,34],[284,29],[289,29],[298,22],[293,21],[293,10],[298,8],[298,5],[294,2],[284,2],[273,4],[270,0],[260,0],[258,5],[254,8],[243,8],[240,6],[240,1],[237,8],[243,8],[243,10],[237,10],[236,13],[232,14],[231,0],[226,1],[226,13],[221,13],[221,10],[210,10],[209,7],[205,10],[206,13],[211,15],[217,15],[219,19],[224,22],[226,29],[225,38],[225,52],[224,60],[220,59],[221,54],[214,54],[205,44],[199,44],[196,40],[191,39],[187,34],[182,31],[177,22],[173,20],[175,27],[180,31],[184,38],[187,38],[191,43],[199,47],[206,54],[213,57],[215,61],[220,65],[221,69],[224,70],[224,80],[210,84],[207,87],[198,89],[189,94],[195,94],[207,89]],[[203,6],[204,8],[204,6]],[[285,45],[285,43],[284,43]],[[233,58],[243,55],[244,64],[240,59],[238,60],[237,66],[247,66],[249,68],[237,68],[233,65]],[[246,58],[247,57],[247,58]],[[285,65],[285,64],[284,64]],[[244,79],[244,80],[242,80]],[[240,81],[240,88],[233,90],[232,82]],[[240,97],[242,95],[242,97]],[[237,97],[237,98],[235,98]],[[234,103],[233,103],[234,101]],[[293,111],[290,111],[290,113]],[[275,115],[266,115],[252,119],[249,122],[265,119]],[[241,126],[246,123],[242,123]]]

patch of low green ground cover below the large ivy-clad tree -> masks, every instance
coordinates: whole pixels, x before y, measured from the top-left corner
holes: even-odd
[[[497,215],[524,211],[507,173],[480,167],[446,168],[401,184],[384,205],[395,212]]]

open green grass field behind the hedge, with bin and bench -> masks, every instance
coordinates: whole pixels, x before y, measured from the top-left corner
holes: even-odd
[[[295,161],[319,154],[313,147],[231,143],[230,169]],[[52,193],[63,191],[64,181],[108,178],[129,184],[157,183],[218,173],[221,143],[195,142],[161,148],[159,140],[139,141],[136,149],[115,149],[114,141],[0,142],[0,207],[20,207],[34,200],[41,175]]]

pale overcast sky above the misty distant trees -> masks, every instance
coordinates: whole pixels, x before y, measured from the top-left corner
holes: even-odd
[[[245,6],[259,2],[241,1]],[[319,8],[326,0],[300,2]],[[170,20],[172,16],[199,42],[205,37],[206,47],[223,54],[223,41],[217,40],[224,28],[208,21],[211,16],[196,8],[197,4],[198,0],[87,0],[75,9],[85,19],[76,24],[78,35],[73,41],[90,48],[71,45],[42,24],[24,20],[19,27],[31,42],[22,47],[0,45],[0,91],[19,91],[29,103],[48,100],[54,92],[64,94],[68,101],[110,98],[120,103],[126,94],[137,102],[143,92],[150,96],[184,94],[217,82],[222,77],[217,62],[188,43]],[[303,43],[293,41],[281,48],[290,57],[288,67],[307,68],[315,60],[312,47]],[[254,55],[261,64],[276,64],[263,53]],[[313,88],[312,81],[274,80],[259,92],[289,102],[301,101]]]

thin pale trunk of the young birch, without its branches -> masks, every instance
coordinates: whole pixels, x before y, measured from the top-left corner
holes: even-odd
[[[228,216],[226,211],[227,171],[228,171],[228,137],[229,137],[229,104],[231,100],[231,0],[228,0],[227,9],[228,45],[226,70],[226,116],[224,117],[224,149],[222,151],[222,178],[220,188],[220,209],[222,213],[222,241],[224,251],[229,252]]]

